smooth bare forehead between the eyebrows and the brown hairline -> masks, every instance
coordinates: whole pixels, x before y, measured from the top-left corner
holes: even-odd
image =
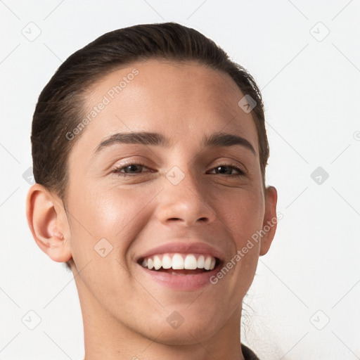
[[[85,114],[94,117],[89,117],[75,148],[89,144],[94,149],[117,132],[161,132],[172,144],[188,139],[188,146],[204,134],[223,131],[244,136],[258,153],[252,115],[238,105],[244,95],[229,75],[205,65],[137,62],[91,86]]]

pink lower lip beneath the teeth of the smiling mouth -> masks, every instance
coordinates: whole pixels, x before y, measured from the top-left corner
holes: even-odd
[[[162,271],[149,270],[146,267],[139,265],[143,270],[146,278],[151,278],[153,281],[160,283],[168,288],[194,291],[205,288],[207,285],[212,285],[210,278],[217,273],[217,267],[211,271],[206,271],[196,275],[172,275]]]

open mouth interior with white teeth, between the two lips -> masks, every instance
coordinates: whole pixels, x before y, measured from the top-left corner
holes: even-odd
[[[151,271],[172,275],[197,275],[219,266],[217,257],[203,254],[159,254],[139,259],[138,264]]]

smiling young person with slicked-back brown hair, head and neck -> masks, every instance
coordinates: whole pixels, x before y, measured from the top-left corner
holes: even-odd
[[[108,32],[39,96],[27,219],[75,276],[85,359],[258,359],[242,302],[276,231],[252,76],[176,23]]]

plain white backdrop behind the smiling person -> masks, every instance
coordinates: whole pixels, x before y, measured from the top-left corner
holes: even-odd
[[[84,356],[73,276],[25,218],[39,93],[101,34],[166,21],[217,42],[264,97],[283,219],[245,297],[242,342],[262,360],[360,359],[359,15],[359,0],[1,0],[0,359]]]

